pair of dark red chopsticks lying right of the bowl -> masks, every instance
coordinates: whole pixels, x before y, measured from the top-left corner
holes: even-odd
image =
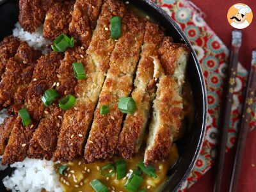
[[[220,127],[222,129],[221,133],[221,142],[218,148],[218,164],[216,169],[216,177],[214,183],[214,192],[220,192],[221,190],[221,180],[223,173],[223,165],[225,160],[225,152],[228,138],[228,127],[231,116],[231,108],[233,101],[233,93],[234,87],[236,86],[236,73],[237,73],[237,65],[238,65],[238,56],[239,49],[241,47],[242,42],[242,32],[239,30],[232,31],[232,47],[230,51],[230,64],[228,66],[227,73],[227,83],[225,84],[225,98],[223,99],[223,104],[225,105],[223,108],[223,116],[221,118]],[[255,89],[255,90],[253,90]],[[230,183],[230,192],[236,192],[237,183],[239,179],[239,172],[241,168],[241,160],[243,157],[244,144],[246,140],[246,133],[248,131],[248,121],[250,120],[250,105],[252,104],[252,99],[255,95],[256,91],[256,51],[253,51],[253,60],[250,68],[250,74],[248,77],[248,84],[246,88],[246,102],[243,106],[243,115],[242,121],[239,129],[239,136],[236,148],[236,157],[234,160],[234,167],[232,172],[232,179]],[[221,113],[222,114],[222,113]]]

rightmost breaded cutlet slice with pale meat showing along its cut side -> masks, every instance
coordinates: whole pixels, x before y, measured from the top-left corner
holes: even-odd
[[[171,38],[165,37],[159,56],[164,74],[161,74],[157,84],[144,156],[146,165],[170,156],[173,138],[179,132],[183,119],[182,84],[189,49],[186,45],[174,44]]]

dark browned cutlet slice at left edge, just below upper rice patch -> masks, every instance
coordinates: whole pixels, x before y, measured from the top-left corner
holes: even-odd
[[[28,84],[33,76],[36,60],[41,52],[21,42],[13,58],[6,64],[6,70],[0,82],[0,106],[13,109],[22,106],[28,90]]]

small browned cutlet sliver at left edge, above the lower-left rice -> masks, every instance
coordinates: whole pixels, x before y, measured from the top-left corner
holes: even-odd
[[[10,133],[13,129],[15,122],[15,116],[8,116],[4,119],[3,124],[0,125],[0,155],[4,153],[4,149],[7,145]]]

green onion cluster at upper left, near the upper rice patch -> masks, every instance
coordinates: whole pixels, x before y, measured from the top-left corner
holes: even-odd
[[[68,47],[74,47],[74,37],[69,38],[67,35],[61,33],[53,41],[51,47],[56,52],[64,52]]]

